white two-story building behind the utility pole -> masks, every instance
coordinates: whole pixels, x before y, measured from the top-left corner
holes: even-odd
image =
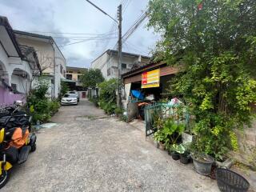
[[[149,62],[150,57],[122,52],[121,74],[125,74],[134,67],[144,66]],[[106,79],[118,78],[118,51],[106,50],[91,62],[91,67],[100,69]]]

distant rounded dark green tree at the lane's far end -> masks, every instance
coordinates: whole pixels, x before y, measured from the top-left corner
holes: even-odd
[[[104,81],[102,72],[99,69],[85,70],[82,74],[82,84],[85,87],[95,88],[99,83]]]

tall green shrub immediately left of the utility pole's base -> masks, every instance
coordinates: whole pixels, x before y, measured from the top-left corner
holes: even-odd
[[[104,81],[98,85],[99,95],[99,106],[105,110],[106,114],[114,114],[116,112],[117,101],[116,101],[116,90],[118,87],[118,79],[111,78],[108,81]]]

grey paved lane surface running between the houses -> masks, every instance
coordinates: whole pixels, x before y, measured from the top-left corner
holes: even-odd
[[[14,167],[1,192],[218,191],[192,165],[147,142],[142,130],[90,102],[63,106],[52,120],[58,126],[39,131],[38,150]]]

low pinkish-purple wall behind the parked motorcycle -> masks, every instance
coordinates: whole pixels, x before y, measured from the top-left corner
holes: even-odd
[[[10,90],[4,90],[3,87],[0,86],[0,106],[10,106],[17,100],[26,102],[25,94],[12,94]]]

